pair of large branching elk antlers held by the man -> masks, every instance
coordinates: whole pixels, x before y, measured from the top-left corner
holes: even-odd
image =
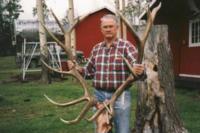
[[[159,10],[160,6],[161,6],[161,4],[159,4],[159,6],[157,6],[156,8],[154,8],[153,11],[152,11],[152,13],[149,13],[149,15],[148,15],[148,21],[147,21],[148,24],[147,24],[147,27],[146,27],[146,30],[145,30],[145,33],[144,33],[144,36],[142,37],[142,39],[140,39],[137,36],[137,34],[134,32],[134,30],[131,27],[131,25],[129,24],[129,22],[123,17],[123,15],[120,12],[118,12],[119,16],[121,17],[121,19],[131,29],[131,31],[134,34],[134,36],[136,36],[137,42],[140,44],[138,46],[140,49],[144,48],[147,36],[148,36],[150,28],[151,28],[151,26],[153,24],[153,20],[155,18],[155,15],[156,15],[157,11]],[[71,44],[71,42],[70,42],[70,34],[71,34],[72,29],[78,24],[78,22],[81,22],[84,18],[82,18],[81,20],[77,20],[76,23],[72,24],[72,26],[69,28],[69,30],[66,31],[66,30],[64,30],[64,28],[62,28],[62,25],[58,21],[56,15],[53,12],[52,12],[52,14],[53,14],[56,22],[58,23],[59,27],[61,28],[61,31],[64,32],[65,43],[63,44],[61,41],[59,41],[46,28],[46,26],[44,24],[42,24],[42,25],[44,26],[45,30],[49,33],[49,35],[57,42],[57,44],[64,49],[65,53],[69,57],[69,60],[74,61],[75,57],[72,54],[71,45],[70,45]],[[143,52],[143,51],[144,50],[140,50],[139,52]],[[142,61],[142,56],[143,56],[143,53],[140,53],[140,55],[139,55],[139,57],[140,57],[139,58],[139,63],[141,63],[141,61]],[[123,60],[127,63],[129,69],[132,71],[131,65],[128,63],[128,61],[124,57],[123,57]],[[74,120],[66,121],[66,120],[64,120],[64,119],[61,118],[61,121],[63,121],[64,123],[67,123],[67,124],[73,124],[73,123],[79,122],[86,115],[86,113],[88,112],[88,110],[91,107],[95,106],[96,103],[97,103],[97,100],[89,93],[89,89],[87,87],[87,83],[83,79],[82,75],[76,70],[75,67],[72,68],[70,71],[60,71],[60,70],[54,69],[51,66],[47,65],[44,61],[42,61],[42,63],[44,63],[44,65],[48,69],[50,69],[52,71],[55,71],[57,73],[66,74],[66,75],[72,75],[73,77],[75,77],[80,82],[82,88],[84,89],[84,95],[81,98],[78,98],[78,99],[73,100],[71,102],[58,103],[58,102],[55,102],[54,100],[52,100],[51,98],[49,98],[47,95],[44,95],[47,98],[48,101],[50,101],[51,103],[53,103],[53,104],[55,104],[57,106],[62,106],[62,107],[67,107],[67,106],[71,106],[71,105],[74,105],[74,104],[78,104],[78,103],[83,102],[83,101],[87,101],[86,106],[83,108],[83,110],[81,111],[81,113]],[[92,120],[96,119],[106,109],[108,110],[108,112],[110,113],[110,115],[113,115],[114,114],[114,111],[113,111],[114,102],[116,101],[117,97],[119,97],[122,94],[124,88],[126,88],[126,86],[129,85],[133,80],[134,80],[133,75],[130,75],[126,79],[126,81],[122,85],[120,85],[119,88],[116,89],[115,93],[113,94],[113,96],[109,100],[109,102],[106,102],[105,106],[103,108],[98,109],[97,112],[93,116],[91,116],[88,120],[92,121]]]

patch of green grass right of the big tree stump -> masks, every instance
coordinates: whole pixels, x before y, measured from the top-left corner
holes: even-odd
[[[200,90],[178,89],[177,106],[186,129],[200,132]]]

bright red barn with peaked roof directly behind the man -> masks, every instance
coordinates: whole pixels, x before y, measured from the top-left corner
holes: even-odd
[[[105,14],[114,14],[108,8],[101,8],[88,15],[76,27],[76,49],[83,51],[85,57],[89,57],[92,47],[103,40],[100,31],[100,18]],[[127,30],[127,39],[135,43],[134,36]]]

